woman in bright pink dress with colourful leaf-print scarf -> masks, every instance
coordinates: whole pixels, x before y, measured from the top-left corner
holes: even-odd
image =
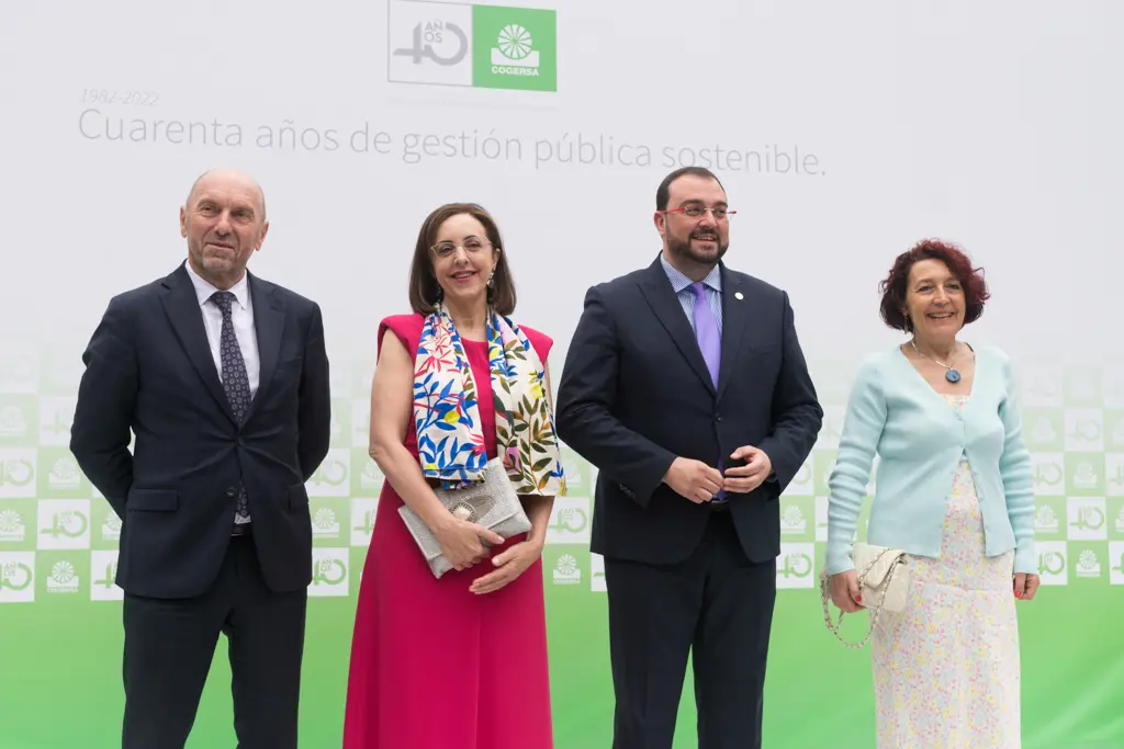
[[[344,749],[550,749],[541,554],[564,493],[552,341],[508,317],[515,285],[499,230],[475,204],[426,219],[409,298],[414,313],[378,331],[371,457],[387,478],[360,585]],[[496,457],[532,523],[506,540],[434,493],[481,479]],[[439,578],[404,503],[454,566]]]

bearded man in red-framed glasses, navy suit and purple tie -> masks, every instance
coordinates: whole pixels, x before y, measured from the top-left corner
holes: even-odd
[[[670,749],[688,654],[700,749],[761,747],[779,497],[823,409],[788,294],[723,262],[733,213],[709,171],[669,174],[660,256],[589,290],[559,382],[598,468],[614,749]]]

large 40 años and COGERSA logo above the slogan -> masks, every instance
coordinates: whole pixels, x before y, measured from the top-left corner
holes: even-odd
[[[553,10],[391,0],[388,79],[558,91]]]

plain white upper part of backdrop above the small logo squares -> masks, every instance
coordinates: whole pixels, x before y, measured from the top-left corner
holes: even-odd
[[[900,339],[877,284],[923,237],[986,268],[966,339],[1016,365],[1124,347],[1121,3],[553,2],[531,3],[558,12],[550,92],[388,81],[413,28],[391,11],[465,6],[9,3],[0,336],[57,337],[78,365],[109,298],[183,259],[192,180],[236,166],[272,222],[251,270],[320,303],[341,367],[373,366],[422,220],[466,200],[499,221],[515,317],[555,338],[556,382],[587,287],[655,257],[662,176],[719,148],[727,262],[789,292],[814,374]],[[787,172],[746,168],[772,150]]]

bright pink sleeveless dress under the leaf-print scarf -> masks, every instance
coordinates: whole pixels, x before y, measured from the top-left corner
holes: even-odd
[[[419,314],[384,319],[379,350],[390,331],[413,355],[422,326]],[[546,362],[552,340],[523,330]],[[487,344],[463,345],[473,377],[487,383]],[[479,409],[490,459],[497,454],[491,399],[480,399]],[[413,429],[405,445],[417,457]],[[398,514],[401,505],[384,482],[355,613],[344,749],[550,749],[542,561],[486,595],[469,586],[493,569],[487,564],[436,579]]]

